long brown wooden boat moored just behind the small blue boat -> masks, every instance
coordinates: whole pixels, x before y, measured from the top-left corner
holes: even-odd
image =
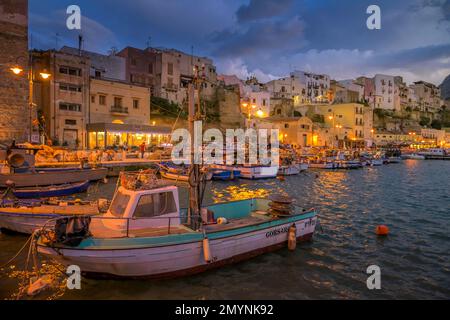
[[[80,181],[95,181],[104,179],[107,172],[108,169],[106,168],[69,168],[52,171],[36,169],[34,172],[26,173],[2,173],[0,174],[0,187],[4,188],[11,185],[14,187],[37,187]]]

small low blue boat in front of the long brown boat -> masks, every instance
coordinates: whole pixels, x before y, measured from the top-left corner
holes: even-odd
[[[89,181],[83,181],[58,186],[21,188],[14,189],[12,193],[21,199],[62,197],[85,192],[89,188],[89,184]]]

